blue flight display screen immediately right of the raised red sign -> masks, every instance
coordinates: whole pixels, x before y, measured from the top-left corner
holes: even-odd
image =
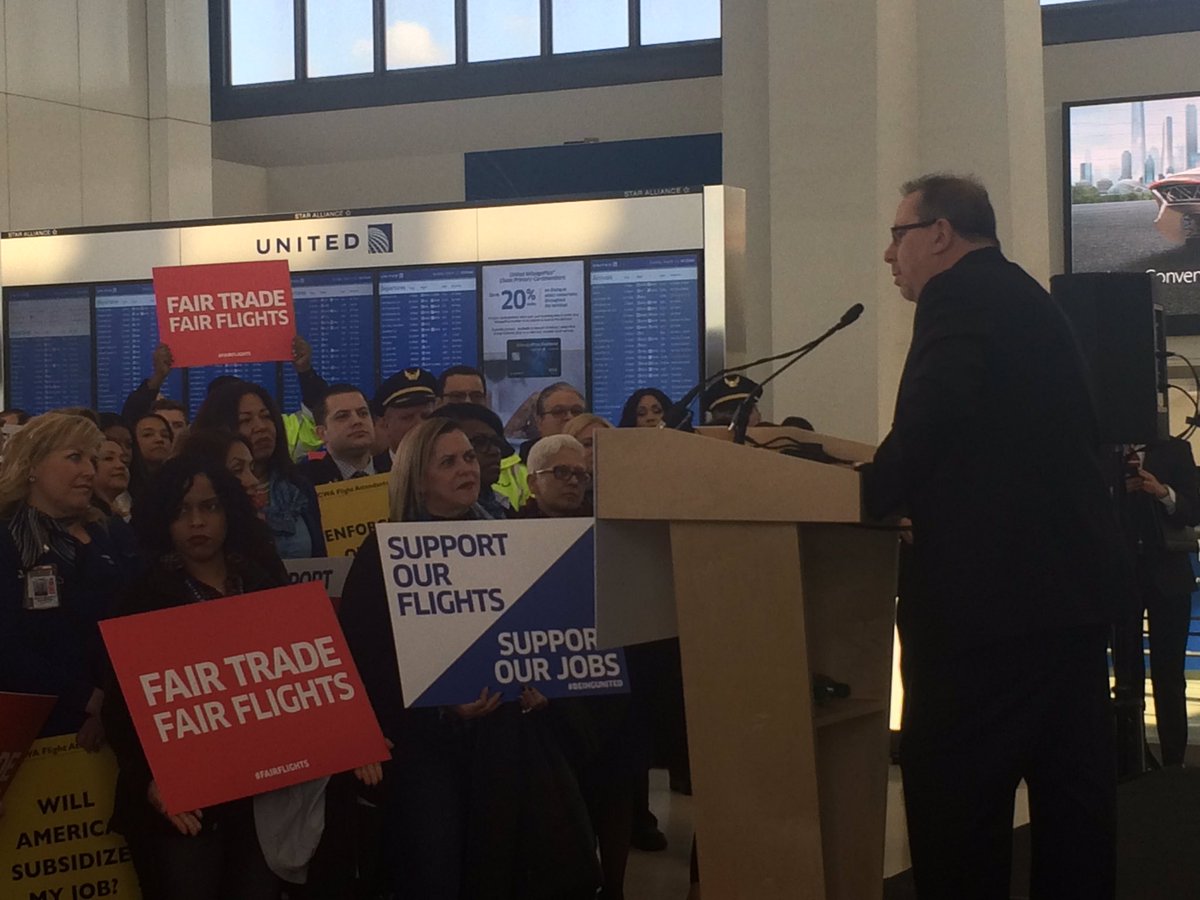
[[[312,365],[329,384],[376,389],[376,302],[371,272],[292,275],[296,332],[312,344]],[[300,408],[300,379],[283,367],[283,408]]]

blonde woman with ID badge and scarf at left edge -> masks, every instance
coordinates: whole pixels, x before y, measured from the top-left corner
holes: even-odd
[[[30,419],[0,463],[0,690],[52,694],[43,736],[103,743],[97,623],[136,560],[92,505],[103,434],[80,415]]]

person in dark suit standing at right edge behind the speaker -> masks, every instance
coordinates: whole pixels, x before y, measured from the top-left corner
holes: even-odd
[[[1121,520],[1138,572],[1138,602],[1127,608],[1114,643],[1117,690],[1145,695],[1142,612],[1150,618],[1150,678],[1163,766],[1182,766],[1188,743],[1187,682],[1183,668],[1192,624],[1187,526],[1200,523],[1200,480],[1192,445],[1178,438],[1132,446],[1126,455]]]

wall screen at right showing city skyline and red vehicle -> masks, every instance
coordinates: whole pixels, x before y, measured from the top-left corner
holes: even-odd
[[[1200,334],[1200,96],[1067,103],[1067,270],[1150,272],[1172,334]]]

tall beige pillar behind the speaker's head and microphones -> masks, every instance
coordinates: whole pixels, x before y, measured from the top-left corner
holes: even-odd
[[[930,170],[978,175],[1006,251],[1049,275],[1040,7],[737,6],[724,23],[724,110],[726,181],[749,192],[755,274],[744,352],[804,343],[864,304],[852,329],[773,383],[767,412],[877,440],[890,422],[912,316],[882,263],[902,181]]]

